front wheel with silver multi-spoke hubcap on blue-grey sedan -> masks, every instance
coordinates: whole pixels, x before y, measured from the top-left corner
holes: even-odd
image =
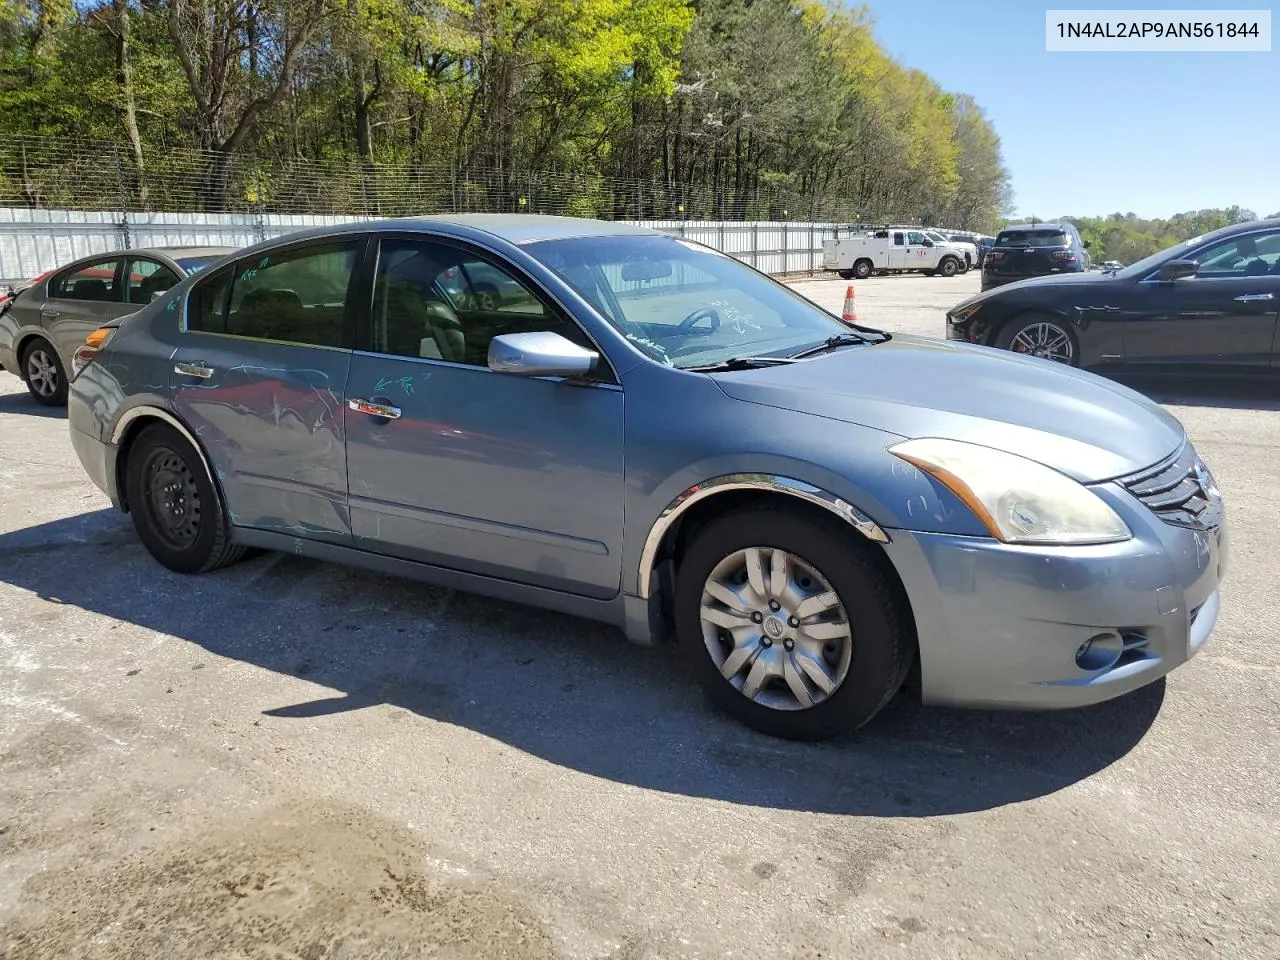
[[[710,699],[788,740],[856,730],[902,685],[910,613],[867,548],[808,513],[733,511],[676,575],[676,631]]]

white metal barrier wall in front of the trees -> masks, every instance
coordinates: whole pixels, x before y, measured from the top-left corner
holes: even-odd
[[[119,214],[0,207],[0,283],[18,283],[92,253],[137,247],[243,247],[358,216]],[[641,220],[644,227],[730,253],[771,274],[817,271],[822,241],[840,224],[781,220]]]

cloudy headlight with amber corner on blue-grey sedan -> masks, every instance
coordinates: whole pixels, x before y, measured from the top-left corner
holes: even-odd
[[[1088,544],[1133,536],[1096,493],[1025,457],[941,439],[905,440],[888,452],[937,479],[997,540]]]

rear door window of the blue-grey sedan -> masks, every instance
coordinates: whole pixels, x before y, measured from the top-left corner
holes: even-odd
[[[225,333],[342,347],[360,246],[361,241],[319,243],[237,261],[229,273]]]

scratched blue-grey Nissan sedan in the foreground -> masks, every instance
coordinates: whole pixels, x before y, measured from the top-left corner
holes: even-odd
[[[639,227],[311,230],[90,339],[72,444],[170,570],[278,549],[673,634],[773,735],[867,722],[913,663],[928,703],[1106,700],[1219,612],[1221,497],[1157,404]]]

